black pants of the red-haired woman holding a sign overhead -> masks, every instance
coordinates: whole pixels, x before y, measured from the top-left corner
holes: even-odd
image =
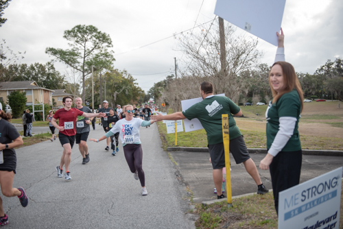
[[[269,166],[276,213],[279,213],[279,193],[296,186],[300,182],[302,158],[301,150],[279,152]]]

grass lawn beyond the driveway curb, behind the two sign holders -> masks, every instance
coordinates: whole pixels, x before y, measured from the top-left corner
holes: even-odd
[[[265,148],[265,109],[267,106],[240,107],[245,118],[235,118],[235,121],[244,135],[246,146],[248,148]],[[175,146],[175,134],[167,134],[164,123],[157,124],[164,149]],[[338,108],[338,101],[305,103],[299,130],[303,149],[343,150],[343,106]],[[178,132],[177,146],[207,147],[206,132],[204,130]]]

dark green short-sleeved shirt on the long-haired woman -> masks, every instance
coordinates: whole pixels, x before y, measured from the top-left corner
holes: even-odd
[[[281,117],[295,117],[296,126],[294,128],[293,135],[287,141],[287,144],[281,151],[293,152],[301,149],[298,123],[300,119],[301,102],[298,95],[298,91],[293,91],[284,94],[276,101],[275,104],[269,104],[265,117],[267,118],[267,148],[270,149],[274,138],[279,131],[279,118]]]

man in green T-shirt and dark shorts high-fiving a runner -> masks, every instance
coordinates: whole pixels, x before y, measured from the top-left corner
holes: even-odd
[[[211,82],[202,82],[200,84],[200,94],[202,101],[194,104],[183,112],[175,112],[171,115],[154,115],[152,119],[178,120],[178,119],[199,119],[200,123],[206,130],[207,142],[213,167],[213,181],[217,189],[217,199],[224,198],[222,194],[222,169],[225,167],[225,154],[222,136],[222,114],[228,114],[229,132],[230,132],[230,152],[237,164],[243,162],[246,171],[255,180],[258,194],[268,193],[268,189],[261,182],[259,172],[255,162],[249,156],[246,143],[243,136],[237,128],[233,115],[241,116],[241,108],[233,101],[224,96],[213,95],[213,84]]]

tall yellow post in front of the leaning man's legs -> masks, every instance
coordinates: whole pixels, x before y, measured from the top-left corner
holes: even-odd
[[[226,194],[228,199],[228,208],[233,206],[233,197],[231,193],[231,173],[230,173],[230,134],[228,130],[228,114],[222,115],[223,144],[225,152],[226,167]]]

